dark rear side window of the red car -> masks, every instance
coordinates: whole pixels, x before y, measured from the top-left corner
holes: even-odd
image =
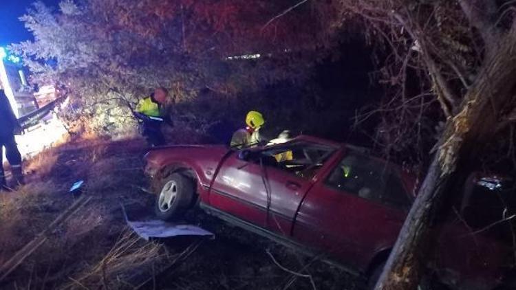
[[[360,153],[344,157],[325,183],[336,190],[396,208],[408,208],[410,204],[396,172],[384,162]]]

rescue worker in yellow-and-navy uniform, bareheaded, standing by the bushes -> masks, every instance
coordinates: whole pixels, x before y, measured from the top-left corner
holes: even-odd
[[[161,131],[163,122],[173,126],[168,113],[169,91],[164,87],[158,87],[150,97],[138,102],[135,115],[140,119],[142,135],[151,146],[162,146],[166,144],[165,137]]]

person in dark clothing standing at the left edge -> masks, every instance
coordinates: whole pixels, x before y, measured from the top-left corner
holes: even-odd
[[[11,166],[12,176],[18,185],[24,184],[21,169],[21,154],[18,150],[14,134],[20,133],[21,127],[11,104],[3,89],[0,89],[0,190],[10,190],[7,187],[6,175],[3,170],[2,148],[6,148],[6,157]]]

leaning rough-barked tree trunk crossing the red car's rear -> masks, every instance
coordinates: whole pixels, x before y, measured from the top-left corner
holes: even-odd
[[[432,232],[433,223],[449,206],[443,202],[445,197],[458,192],[453,188],[462,186],[471,164],[478,160],[477,153],[493,137],[497,123],[515,107],[515,43],[512,30],[498,43],[488,44],[495,53],[484,60],[460,111],[447,120],[440,147],[376,284],[377,290],[417,289],[438,236]]]

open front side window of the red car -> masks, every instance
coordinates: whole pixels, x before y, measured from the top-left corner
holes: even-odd
[[[311,178],[334,153],[334,148],[309,142],[297,142],[266,148],[261,161],[271,167]]]

